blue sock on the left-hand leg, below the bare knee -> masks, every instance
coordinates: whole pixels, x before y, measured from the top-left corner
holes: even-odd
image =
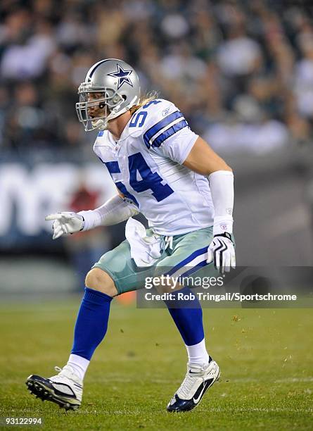
[[[90,361],[108,328],[112,297],[85,287],[74,331],[72,354]]]

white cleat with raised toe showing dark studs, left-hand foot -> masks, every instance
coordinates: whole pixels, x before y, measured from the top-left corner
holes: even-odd
[[[52,401],[65,408],[76,410],[82,403],[82,380],[71,366],[55,367],[59,373],[49,379],[39,375],[30,375],[27,378],[27,389],[42,401]]]

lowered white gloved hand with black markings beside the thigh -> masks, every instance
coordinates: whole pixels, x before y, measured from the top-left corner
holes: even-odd
[[[231,268],[236,268],[235,247],[229,233],[215,235],[207,254],[207,263],[213,262],[219,273],[228,273]]]

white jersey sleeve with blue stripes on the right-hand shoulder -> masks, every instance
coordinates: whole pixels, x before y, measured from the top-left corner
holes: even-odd
[[[151,151],[182,164],[198,135],[192,132],[184,115],[170,101],[157,99],[153,102],[145,110],[143,142]]]

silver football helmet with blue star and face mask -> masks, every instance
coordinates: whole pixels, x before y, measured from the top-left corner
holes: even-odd
[[[84,130],[106,130],[108,121],[139,103],[139,78],[129,64],[108,58],[91,66],[78,94],[76,112]]]

